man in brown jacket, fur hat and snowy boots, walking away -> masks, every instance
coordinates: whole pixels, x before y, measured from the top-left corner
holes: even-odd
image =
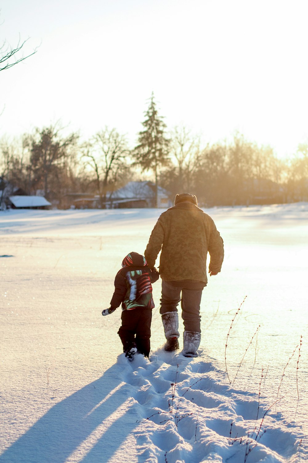
[[[164,349],[179,349],[177,305],[181,301],[183,355],[197,357],[201,340],[200,301],[207,283],[206,257],[209,252],[210,275],[217,275],[223,263],[223,240],[211,217],[197,206],[196,196],[177,194],[174,207],[160,215],[145,250],[151,269],[160,250],[160,314],[167,339]]]

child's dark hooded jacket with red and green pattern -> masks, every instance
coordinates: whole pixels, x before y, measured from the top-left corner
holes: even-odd
[[[158,280],[157,270],[152,271],[145,257],[130,252],[124,257],[122,269],[115,276],[115,292],[110,307],[131,310],[136,307],[154,308],[152,285]]]

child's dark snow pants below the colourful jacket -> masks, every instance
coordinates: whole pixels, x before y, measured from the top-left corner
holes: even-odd
[[[122,325],[118,335],[123,344],[123,352],[127,352],[136,345],[140,354],[149,357],[152,310],[145,307],[124,310],[121,320]]]

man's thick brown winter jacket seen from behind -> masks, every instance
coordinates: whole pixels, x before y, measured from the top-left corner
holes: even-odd
[[[181,202],[160,215],[145,250],[150,268],[160,250],[162,280],[206,284],[207,253],[211,256],[210,271],[220,272],[223,263],[223,239],[213,219],[191,202]]]

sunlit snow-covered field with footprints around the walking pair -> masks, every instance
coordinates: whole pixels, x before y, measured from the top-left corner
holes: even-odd
[[[205,210],[225,260],[199,357],[162,351],[159,280],[129,364],[101,311],[161,212],[0,212],[1,463],[308,461],[308,203]]]

